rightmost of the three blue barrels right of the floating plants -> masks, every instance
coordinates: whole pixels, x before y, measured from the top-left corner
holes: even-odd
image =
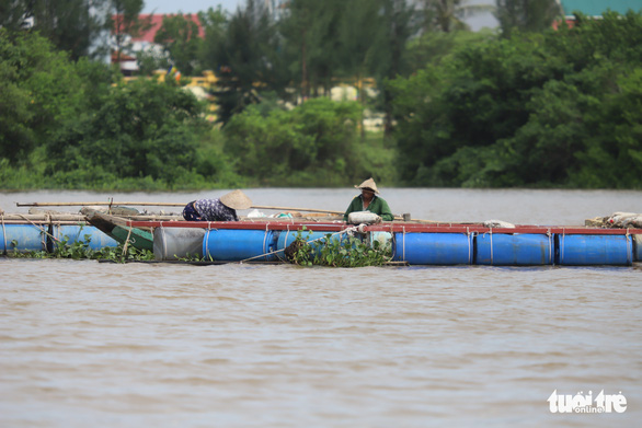
[[[631,265],[633,243],[627,235],[558,235],[560,265]]]

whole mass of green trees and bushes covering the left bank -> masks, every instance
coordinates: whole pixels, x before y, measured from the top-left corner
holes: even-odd
[[[204,105],[174,82],[112,85],[106,67],[0,28],[3,188],[194,189],[240,183]],[[219,147],[221,144],[218,144]]]

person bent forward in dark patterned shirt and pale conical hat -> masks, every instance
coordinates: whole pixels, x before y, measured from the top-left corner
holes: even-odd
[[[187,221],[239,221],[237,209],[248,209],[252,200],[241,190],[225,194],[218,199],[196,199],[183,209]]]

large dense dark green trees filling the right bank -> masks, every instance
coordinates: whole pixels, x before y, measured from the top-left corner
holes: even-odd
[[[431,186],[641,187],[642,14],[457,49],[391,83],[401,178]]]

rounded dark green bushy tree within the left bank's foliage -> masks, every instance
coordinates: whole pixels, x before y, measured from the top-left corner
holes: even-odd
[[[205,130],[202,113],[196,99],[179,88],[144,79],[119,84],[96,112],[56,135],[50,160],[58,171],[149,176],[171,184],[195,163]]]

